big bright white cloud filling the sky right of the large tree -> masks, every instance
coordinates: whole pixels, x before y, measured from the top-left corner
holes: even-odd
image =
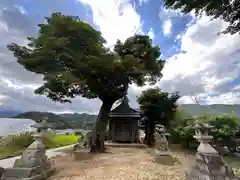
[[[178,37],[184,53],[167,60],[160,87],[180,91],[184,96],[182,102],[189,102],[187,96],[194,94],[207,104],[240,103],[237,88],[228,86],[240,74],[240,38],[217,35],[226,26],[221,20],[210,21],[207,17],[191,23]],[[212,93],[219,95],[210,96]]]

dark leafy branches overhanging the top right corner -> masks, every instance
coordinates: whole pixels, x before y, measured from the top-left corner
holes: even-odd
[[[239,0],[164,0],[167,8],[179,9],[183,13],[194,11],[196,15],[206,13],[213,19],[220,18],[229,23],[223,33],[240,33]]]

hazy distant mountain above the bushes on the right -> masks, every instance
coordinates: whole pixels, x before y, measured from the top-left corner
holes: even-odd
[[[221,114],[234,112],[240,117],[240,105],[226,105],[226,104],[212,104],[212,105],[199,105],[199,104],[182,104],[180,105],[187,113],[193,116],[203,114]]]

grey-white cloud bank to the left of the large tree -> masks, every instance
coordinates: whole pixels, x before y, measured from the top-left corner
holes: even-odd
[[[98,99],[78,97],[71,104],[60,104],[34,94],[43,82],[41,76],[21,67],[6,48],[15,42],[26,44],[26,36],[35,33],[36,24],[28,21],[20,9],[13,6],[0,9],[0,108],[18,111],[88,112],[97,113]]]

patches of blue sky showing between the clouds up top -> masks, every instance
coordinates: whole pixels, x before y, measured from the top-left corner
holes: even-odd
[[[6,1],[6,0],[5,0]],[[4,1],[4,2],[5,2]],[[113,0],[114,1],[114,0]],[[146,1],[147,2],[147,1]],[[176,16],[170,15],[172,27],[171,34],[166,36],[163,33],[163,26],[166,20],[166,14],[161,15],[160,9],[163,8],[161,1],[148,0],[147,3],[140,3],[139,0],[130,1],[135,6],[136,13],[140,15],[140,21],[142,23],[142,30],[144,34],[152,29],[154,32],[153,42],[160,45],[161,51],[164,57],[170,57],[178,52],[179,42],[176,42],[176,36],[186,30],[186,25],[192,20],[189,16]],[[4,3],[3,3],[4,4]],[[5,4],[11,4],[11,1],[6,1]],[[61,12],[63,14],[69,14],[79,16],[83,21],[90,23],[96,29],[99,29],[98,25],[93,22],[91,6],[81,3],[77,0],[60,0],[60,1],[33,1],[22,0],[16,1],[14,5],[20,9],[28,21],[32,22],[32,25],[36,26],[39,23],[44,22],[44,17],[49,16],[52,12]],[[162,19],[161,19],[162,17]],[[124,27],[122,27],[124,28]],[[166,59],[167,60],[167,59]]]

